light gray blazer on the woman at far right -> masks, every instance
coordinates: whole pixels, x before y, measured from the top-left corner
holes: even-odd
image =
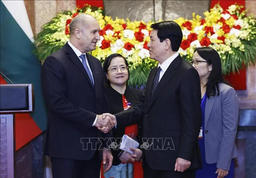
[[[208,164],[229,170],[236,149],[239,102],[234,88],[219,83],[219,96],[207,98],[204,115],[204,145]]]

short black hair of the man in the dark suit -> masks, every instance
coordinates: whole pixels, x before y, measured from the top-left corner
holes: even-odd
[[[182,41],[181,27],[174,21],[158,22],[151,25],[151,28],[157,30],[157,37],[162,43],[165,39],[171,41],[172,51],[178,51]]]

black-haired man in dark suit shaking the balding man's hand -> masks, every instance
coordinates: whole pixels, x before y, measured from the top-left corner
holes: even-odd
[[[192,178],[200,166],[199,75],[177,52],[182,31],[176,22],[159,22],[151,28],[149,54],[159,64],[149,73],[144,101],[108,116],[116,117],[117,127],[143,118],[145,178]]]

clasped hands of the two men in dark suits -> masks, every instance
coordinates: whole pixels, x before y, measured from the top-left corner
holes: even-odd
[[[95,127],[97,127],[103,133],[108,133],[116,125],[116,118],[114,115],[104,113],[98,115]]]

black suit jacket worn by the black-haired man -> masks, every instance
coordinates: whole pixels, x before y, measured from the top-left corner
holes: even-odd
[[[190,160],[191,169],[198,168],[201,165],[197,142],[201,126],[199,75],[179,55],[167,68],[151,99],[156,71],[153,68],[149,73],[144,102],[116,114],[117,126],[135,123],[143,116],[142,138],[149,143],[144,145],[144,155],[152,169],[174,170],[177,157]]]

